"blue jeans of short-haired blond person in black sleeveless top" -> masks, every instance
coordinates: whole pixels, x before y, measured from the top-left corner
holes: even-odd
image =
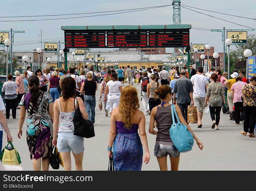
[[[86,112],[88,113],[88,120],[95,123],[95,106],[96,98],[95,96],[84,95],[84,106]]]

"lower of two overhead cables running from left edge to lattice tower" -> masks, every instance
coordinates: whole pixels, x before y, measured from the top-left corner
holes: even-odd
[[[121,14],[121,13],[131,13],[131,12],[136,12],[136,11],[150,10],[150,9],[156,9],[156,8],[162,8],[162,7],[168,7],[168,6],[171,6],[171,5],[158,6],[158,7],[154,7],[154,8],[145,8],[145,9],[140,9],[140,10],[124,11],[124,12],[120,12],[120,13],[109,13],[109,14],[91,15],[91,16],[82,16],[82,17],[67,17],[67,18],[56,18],[56,19],[33,19],[33,20],[6,20],[6,21],[0,21],[0,22],[46,21],[46,20],[60,20],[60,19],[74,19],[74,18],[96,17],[96,16],[104,16],[104,15],[115,15],[115,14]]]

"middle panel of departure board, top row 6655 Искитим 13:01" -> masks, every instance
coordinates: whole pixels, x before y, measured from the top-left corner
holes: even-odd
[[[107,47],[147,47],[147,31],[109,31]]]

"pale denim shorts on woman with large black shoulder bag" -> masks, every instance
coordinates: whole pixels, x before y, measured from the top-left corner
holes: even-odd
[[[57,139],[58,152],[72,152],[79,154],[84,151],[83,137],[73,135],[73,133],[58,133]]]

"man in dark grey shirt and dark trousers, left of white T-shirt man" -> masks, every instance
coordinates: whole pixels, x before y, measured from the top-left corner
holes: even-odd
[[[186,78],[187,71],[182,69],[181,78],[177,79],[173,88],[173,104],[176,104],[175,96],[177,94],[177,105],[179,106],[181,113],[187,122],[188,118],[188,106],[190,102],[194,105],[193,101],[193,85],[191,80]]]

